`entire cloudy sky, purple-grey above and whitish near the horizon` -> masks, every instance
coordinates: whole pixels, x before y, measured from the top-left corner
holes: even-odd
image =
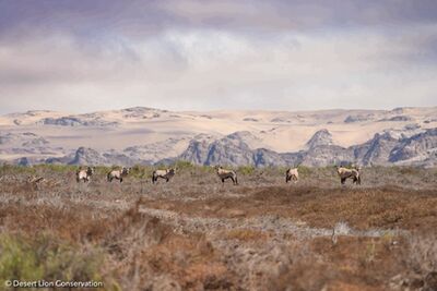
[[[0,113],[436,105],[435,0],[0,0]]]

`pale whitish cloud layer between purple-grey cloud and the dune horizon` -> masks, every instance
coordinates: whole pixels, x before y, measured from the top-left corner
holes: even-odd
[[[253,35],[173,28],[96,45],[35,36],[0,45],[0,110],[436,105],[436,59],[426,46],[436,38],[432,25]]]

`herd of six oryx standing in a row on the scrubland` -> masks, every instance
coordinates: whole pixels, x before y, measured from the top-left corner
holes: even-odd
[[[215,166],[214,169],[223,184],[225,183],[226,180],[229,179],[234,185],[238,185],[237,173],[234,170],[225,169],[222,166]],[[335,166],[335,169],[340,178],[340,183],[342,185],[345,184],[347,179],[351,179],[353,184],[361,185],[362,175],[359,167],[345,168]],[[176,170],[177,170],[176,168],[169,168],[165,170],[153,171],[152,183],[153,184],[156,183],[158,179],[163,179],[166,182],[168,182],[176,174]],[[126,168],[126,167],[122,167],[120,169],[113,169],[106,175],[107,181],[113,182],[113,180],[116,179],[121,183],[123,181],[123,178],[126,178],[130,171],[131,168]],[[80,167],[75,172],[78,183],[81,181],[83,181],[84,183],[90,182],[91,177],[93,175],[95,169],[93,167],[86,167],[85,169]],[[298,167],[290,168],[286,170],[285,182],[288,183],[290,181],[293,181],[294,183],[297,183],[299,181]]]

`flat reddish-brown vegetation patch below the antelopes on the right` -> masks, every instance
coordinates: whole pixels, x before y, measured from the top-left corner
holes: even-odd
[[[180,202],[147,201],[147,207],[204,217],[279,215],[306,221],[311,227],[332,228],[339,221],[357,229],[437,229],[437,191],[395,186],[378,189],[321,189],[315,186],[264,186],[241,189],[241,197]]]

